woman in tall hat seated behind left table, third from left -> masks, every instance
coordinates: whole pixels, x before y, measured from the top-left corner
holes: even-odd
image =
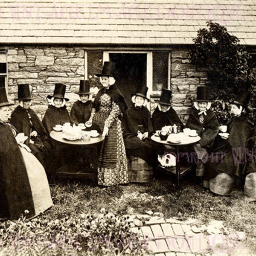
[[[65,84],[55,84],[53,95],[47,96],[50,104],[44,114],[42,123],[48,134],[50,134],[55,125],[64,125],[65,122],[70,122],[70,116],[66,107],[66,102],[69,99],[65,98],[65,91]]]

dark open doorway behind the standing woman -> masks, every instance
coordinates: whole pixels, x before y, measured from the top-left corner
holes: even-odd
[[[146,53],[110,53],[110,61],[116,63],[116,85],[130,107],[131,93],[138,87],[146,86],[147,54]]]

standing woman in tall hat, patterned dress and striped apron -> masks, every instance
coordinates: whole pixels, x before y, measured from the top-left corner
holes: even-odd
[[[127,158],[122,137],[121,117],[125,99],[114,85],[115,64],[105,61],[99,80],[103,86],[97,93],[90,121],[99,126],[105,137],[99,151],[98,183],[102,186],[128,183]]]

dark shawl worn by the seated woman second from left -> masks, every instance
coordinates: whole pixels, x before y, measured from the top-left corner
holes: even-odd
[[[35,131],[38,133],[37,140],[40,140],[41,143],[43,143],[44,147],[47,150],[49,150],[51,146],[50,146],[49,137],[48,137],[47,131],[44,128],[44,125],[41,123],[38,116],[31,108],[29,108],[27,111],[31,116],[31,122],[35,128]],[[29,122],[28,113],[26,112],[26,109],[22,108],[21,106],[18,106],[17,108],[15,108],[15,110],[12,113],[10,123],[15,126],[15,128],[19,133],[23,132],[25,136],[28,136],[28,139],[26,140],[25,143],[26,145],[29,146],[31,125]],[[37,141],[35,141],[35,145],[37,145]],[[39,145],[39,142],[38,142],[38,145]]]

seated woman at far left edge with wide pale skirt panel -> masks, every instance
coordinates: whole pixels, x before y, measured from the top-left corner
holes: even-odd
[[[5,88],[0,88],[0,218],[35,217],[52,206],[44,167],[23,144],[27,139],[8,122]],[[28,150],[28,151],[27,151]]]

